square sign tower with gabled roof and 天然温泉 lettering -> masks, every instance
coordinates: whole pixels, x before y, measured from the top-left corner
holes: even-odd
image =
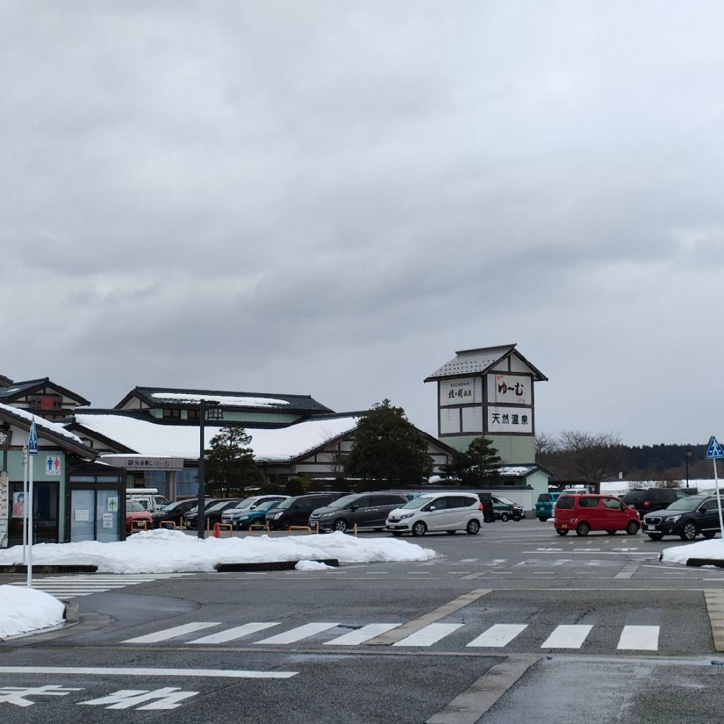
[[[534,383],[547,379],[515,345],[456,352],[425,379],[437,382],[437,437],[461,451],[487,437],[503,463],[533,463]]]

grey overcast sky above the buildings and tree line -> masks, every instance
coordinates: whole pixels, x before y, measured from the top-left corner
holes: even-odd
[[[0,374],[724,438],[719,0],[0,2]]]

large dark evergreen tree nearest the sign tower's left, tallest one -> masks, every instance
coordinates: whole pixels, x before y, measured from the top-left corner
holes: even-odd
[[[357,425],[346,472],[384,484],[419,484],[432,474],[427,441],[403,408],[382,400]]]

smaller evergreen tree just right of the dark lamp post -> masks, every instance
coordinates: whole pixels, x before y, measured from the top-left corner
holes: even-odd
[[[251,435],[240,427],[222,427],[204,452],[206,488],[211,494],[228,497],[248,486],[264,482],[264,473],[254,462]]]

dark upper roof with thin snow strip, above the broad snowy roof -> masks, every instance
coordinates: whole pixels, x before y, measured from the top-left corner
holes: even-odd
[[[134,387],[114,409],[122,409],[133,397],[149,408],[188,407],[201,400],[214,400],[222,408],[251,408],[288,413],[332,413],[310,395],[279,395],[266,392],[234,392],[230,390],[190,390],[183,387]]]

